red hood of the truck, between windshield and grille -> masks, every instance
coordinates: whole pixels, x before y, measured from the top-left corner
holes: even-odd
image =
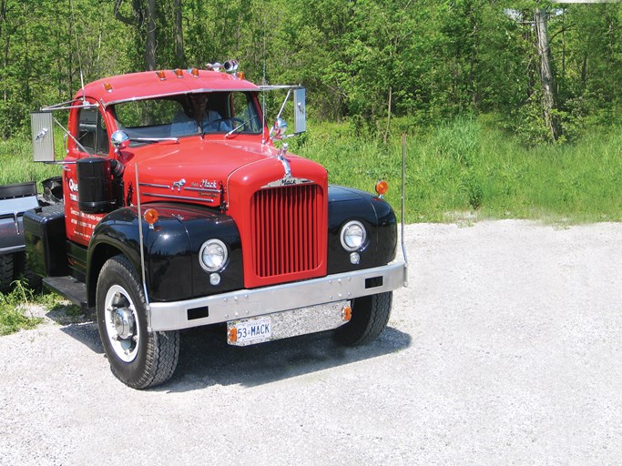
[[[218,207],[220,188],[226,201],[237,187],[259,189],[279,183],[291,169],[294,182],[311,181],[324,185],[326,170],[321,165],[293,154],[277,157],[271,144],[243,140],[213,140],[185,137],[178,144],[157,143],[124,152],[126,186],[136,181],[138,162],[141,200],[195,200]],[[287,183],[287,182],[286,182]],[[135,193],[133,202],[136,201]]]

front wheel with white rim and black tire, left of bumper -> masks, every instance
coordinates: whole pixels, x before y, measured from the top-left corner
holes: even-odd
[[[178,363],[179,332],[147,330],[145,295],[126,257],[110,258],[101,269],[96,309],[99,337],[118,380],[134,389],[146,389],[172,377]]]

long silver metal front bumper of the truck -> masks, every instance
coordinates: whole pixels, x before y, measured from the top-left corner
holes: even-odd
[[[151,303],[150,331],[189,329],[201,325],[257,317],[344,299],[360,298],[406,286],[407,265],[387,266],[328,275],[260,289],[240,289],[204,298]]]

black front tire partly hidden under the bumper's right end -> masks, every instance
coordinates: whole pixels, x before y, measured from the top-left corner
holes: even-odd
[[[348,346],[372,341],[386,327],[392,302],[393,291],[352,299],[352,319],[335,330],[335,339]]]

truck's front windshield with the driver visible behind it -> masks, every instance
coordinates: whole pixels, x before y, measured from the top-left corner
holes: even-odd
[[[135,100],[113,108],[117,128],[131,138],[201,134],[259,134],[261,121],[248,92],[212,92]]]

